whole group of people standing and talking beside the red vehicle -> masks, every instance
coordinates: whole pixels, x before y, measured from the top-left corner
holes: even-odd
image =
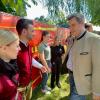
[[[66,57],[70,100],[87,100],[88,95],[91,100],[100,100],[100,36],[93,33],[92,24],[85,23],[80,13],[69,15],[67,20],[70,29],[67,51],[57,36],[49,45],[50,33],[43,31],[38,61],[32,57],[29,45],[35,35],[32,20],[19,19],[16,23],[18,34],[0,30],[0,100],[31,100],[33,66],[42,72],[42,93],[50,94],[55,85],[61,88],[61,68]],[[49,76],[50,87],[47,84]]]

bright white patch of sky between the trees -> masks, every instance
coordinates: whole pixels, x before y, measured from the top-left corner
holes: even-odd
[[[36,17],[40,17],[44,15],[45,17],[48,14],[48,11],[46,8],[44,8],[41,4],[38,4],[38,6],[35,6],[31,0],[28,1],[31,5],[31,8],[27,8],[27,18],[34,19]]]

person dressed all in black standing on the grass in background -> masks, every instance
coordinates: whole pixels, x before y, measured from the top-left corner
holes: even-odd
[[[61,88],[60,84],[60,71],[62,67],[62,55],[65,53],[64,47],[60,41],[55,39],[54,45],[51,46],[51,88],[55,87],[55,81],[58,88]]]

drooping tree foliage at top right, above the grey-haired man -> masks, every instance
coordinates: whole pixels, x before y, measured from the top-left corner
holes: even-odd
[[[53,20],[59,17],[59,11],[65,15],[80,12],[84,14],[88,22],[100,25],[100,0],[40,0],[48,8],[49,16]]]

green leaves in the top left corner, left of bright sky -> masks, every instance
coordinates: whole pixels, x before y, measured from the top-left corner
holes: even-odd
[[[2,0],[1,3],[3,5],[3,8],[6,8],[5,10],[1,11],[18,16],[26,15],[26,11],[24,10],[25,5],[23,3],[23,0]]]

